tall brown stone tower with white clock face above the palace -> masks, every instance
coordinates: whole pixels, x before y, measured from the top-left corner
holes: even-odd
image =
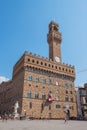
[[[54,21],[49,24],[49,33],[47,35],[47,42],[49,44],[49,59],[56,62],[62,62],[61,58],[61,40],[62,35],[59,32],[59,26]]]

